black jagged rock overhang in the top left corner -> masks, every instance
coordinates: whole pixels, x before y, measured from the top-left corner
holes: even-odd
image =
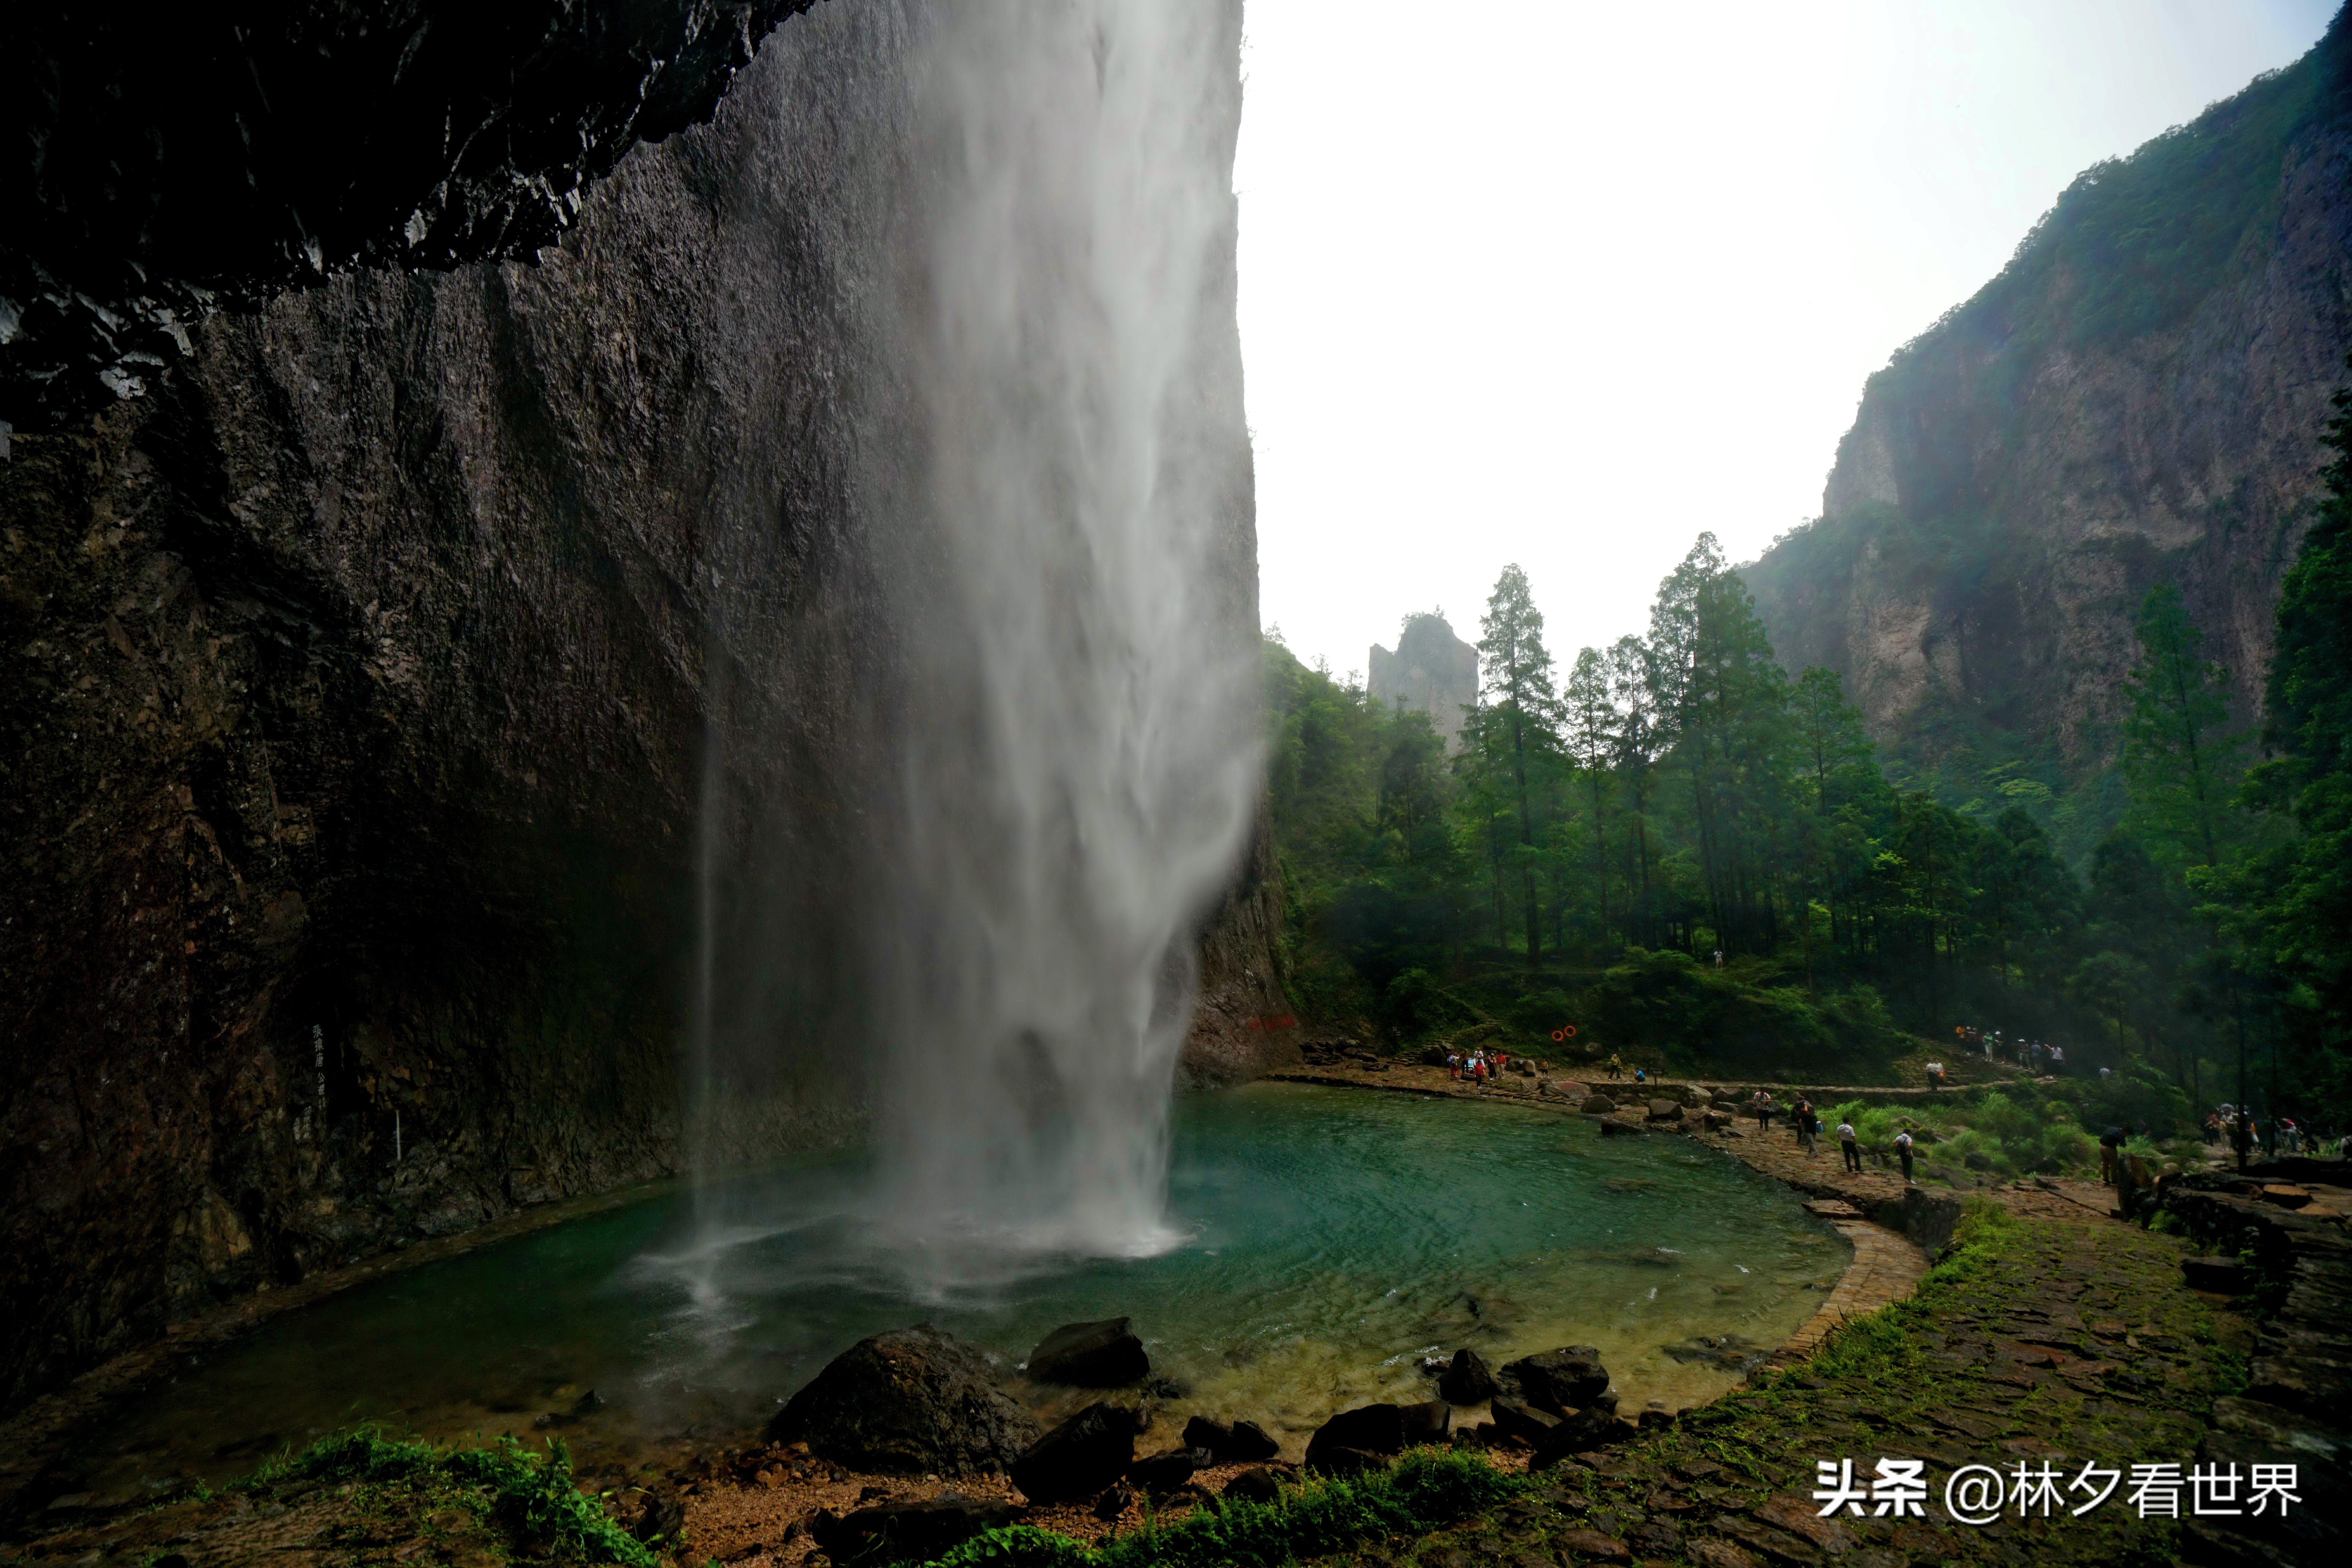
[[[809,5],[26,7],[0,49],[0,451],[141,395],[216,306],[536,252]]]

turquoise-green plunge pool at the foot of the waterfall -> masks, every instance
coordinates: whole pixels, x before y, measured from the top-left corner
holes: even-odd
[[[1296,1450],[1324,1415],[1428,1399],[1423,1356],[1597,1345],[1625,1408],[1731,1375],[1663,1347],[1778,1345],[1846,1241],[1778,1182],[1682,1138],[1599,1138],[1510,1105],[1258,1084],[1178,1100],[1150,1258],[964,1269],[880,1239],[861,1161],[762,1171],[574,1220],[275,1319],[129,1408],[85,1483],[219,1479],[355,1420],[430,1436],[562,1432],[583,1460],[722,1436],[863,1335],[929,1319],[1018,1361],[1054,1326],[1134,1316],[1171,1413],[1249,1415]],[[708,1239],[715,1237],[715,1239]]]

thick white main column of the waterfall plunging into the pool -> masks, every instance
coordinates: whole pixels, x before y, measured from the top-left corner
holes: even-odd
[[[1169,1239],[1192,943],[1258,762],[1214,567],[1247,520],[1221,9],[955,5],[920,54],[875,997],[891,1222],[948,1274]]]

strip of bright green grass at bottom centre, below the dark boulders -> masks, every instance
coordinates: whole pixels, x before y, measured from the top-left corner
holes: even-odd
[[[1277,1502],[1221,1502],[1105,1547],[1035,1526],[990,1530],[936,1568],[1275,1568],[1383,1535],[1425,1535],[1503,1502],[1524,1483],[1475,1453],[1416,1448],[1392,1469],[1317,1479]]]

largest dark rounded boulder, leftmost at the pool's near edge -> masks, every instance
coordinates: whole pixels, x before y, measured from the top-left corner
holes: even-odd
[[[877,1474],[960,1476],[1011,1465],[1037,1420],[1000,1385],[997,1361],[931,1324],[858,1340],[767,1425],[774,1443]]]

